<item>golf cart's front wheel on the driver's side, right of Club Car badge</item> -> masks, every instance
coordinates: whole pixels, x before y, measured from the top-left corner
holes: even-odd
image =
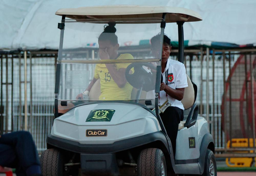
[[[164,153],[158,148],[147,148],[138,157],[138,176],[166,176]]]

